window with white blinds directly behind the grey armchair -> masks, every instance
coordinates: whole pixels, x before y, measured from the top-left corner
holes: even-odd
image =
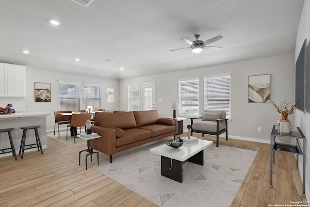
[[[204,110],[224,110],[231,117],[231,75],[204,77]]]

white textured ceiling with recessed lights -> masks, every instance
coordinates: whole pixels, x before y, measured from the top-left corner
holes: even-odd
[[[294,53],[303,2],[93,0],[85,7],[72,0],[0,0],[0,62],[126,79]],[[194,34],[202,41],[222,35],[210,46],[223,49],[170,51],[188,47],[181,38],[194,41]]]

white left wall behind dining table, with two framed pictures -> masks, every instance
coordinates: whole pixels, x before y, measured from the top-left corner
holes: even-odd
[[[118,110],[119,108],[119,80],[102,79],[92,76],[82,76],[67,73],[58,73],[45,70],[37,70],[26,68],[26,98],[25,98],[25,110],[26,111],[42,111],[48,112],[51,115],[47,116],[47,131],[54,130],[54,111],[59,111],[59,97],[58,97],[58,80],[73,81],[81,83],[81,95],[83,97],[83,83],[95,83],[101,84],[101,108],[106,110]],[[51,83],[51,102],[35,102],[34,99],[34,82],[46,82]],[[106,103],[106,87],[115,88],[115,102]],[[84,104],[81,101],[81,109],[84,108]],[[65,128],[65,125],[61,125],[61,128]],[[57,128],[57,125],[56,125]]]

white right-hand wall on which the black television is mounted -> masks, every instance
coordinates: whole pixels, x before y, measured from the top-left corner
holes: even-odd
[[[295,125],[297,127],[300,127],[302,132],[305,134],[306,138],[308,138],[307,142],[307,147],[306,147],[306,197],[310,198],[310,177],[309,177],[309,172],[310,172],[310,159],[309,159],[309,153],[310,153],[310,46],[309,46],[309,40],[310,40],[310,0],[305,0],[304,1],[304,7],[301,13],[300,21],[299,21],[299,26],[298,26],[298,31],[297,31],[297,36],[296,36],[296,45],[295,45],[295,58],[294,62],[296,62],[297,57],[299,55],[299,51],[301,49],[301,46],[304,42],[304,40],[307,38],[307,53],[308,53],[308,65],[307,65],[307,94],[308,94],[308,99],[306,100],[306,106],[307,106],[307,111],[306,113],[303,113],[301,111],[295,111],[294,116],[295,116]],[[302,176],[302,159],[299,159],[299,172],[300,175]],[[308,175],[308,177],[307,177]]]

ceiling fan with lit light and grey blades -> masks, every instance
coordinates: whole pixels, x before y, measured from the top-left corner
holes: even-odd
[[[217,40],[222,39],[223,37],[221,35],[213,37],[213,38],[211,38],[209,40],[206,40],[204,42],[202,42],[202,40],[198,40],[198,38],[200,37],[199,34],[195,34],[194,36],[196,37],[196,40],[194,40],[194,41],[190,41],[190,40],[186,39],[185,37],[181,38],[188,45],[190,45],[190,48],[172,49],[170,51],[181,50],[181,49],[191,49],[193,53],[200,53],[203,48],[208,48],[208,49],[213,49],[213,50],[220,50],[221,49],[221,47],[207,46],[207,45],[209,45],[211,43],[216,42]]]

